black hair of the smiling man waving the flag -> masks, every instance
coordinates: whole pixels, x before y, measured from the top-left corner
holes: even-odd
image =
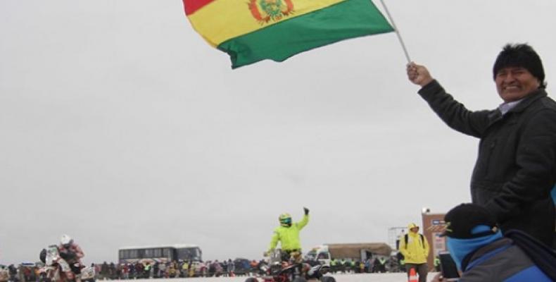
[[[508,67],[525,68],[541,82],[539,88],[546,88],[545,71],[543,69],[541,57],[539,57],[537,52],[533,50],[533,47],[528,44],[506,44],[494,62],[494,79],[496,79],[496,73],[498,73],[498,71]]]

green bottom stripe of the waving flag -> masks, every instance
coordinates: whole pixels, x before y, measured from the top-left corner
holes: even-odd
[[[270,25],[223,42],[218,49],[232,59],[232,68],[289,57],[343,39],[391,32],[371,0],[346,0],[339,4]]]

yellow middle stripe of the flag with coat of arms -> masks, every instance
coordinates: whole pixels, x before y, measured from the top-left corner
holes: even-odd
[[[261,1],[266,5],[261,6]],[[346,0],[215,0],[188,18],[195,30],[217,47],[228,39],[343,1]],[[276,16],[277,11],[279,16]]]

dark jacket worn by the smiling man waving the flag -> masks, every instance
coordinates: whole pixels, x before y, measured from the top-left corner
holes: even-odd
[[[450,128],[481,139],[471,180],[472,202],[495,214],[503,231],[519,229],[551,245],[556,102],[538,89],[502,115],[498,109],[465,109],[436,80],[419,94]]]

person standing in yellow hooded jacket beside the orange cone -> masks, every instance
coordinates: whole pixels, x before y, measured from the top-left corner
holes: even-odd
[[[419,282],[427,282],[427,257],[429,256],[429,242],[424,235],[419,233],[419,226],[410,223],[407,226],[407,234],[400,238],[400,252],[405,260],[405,270],[407,277],[411,269],[419,274]]]

